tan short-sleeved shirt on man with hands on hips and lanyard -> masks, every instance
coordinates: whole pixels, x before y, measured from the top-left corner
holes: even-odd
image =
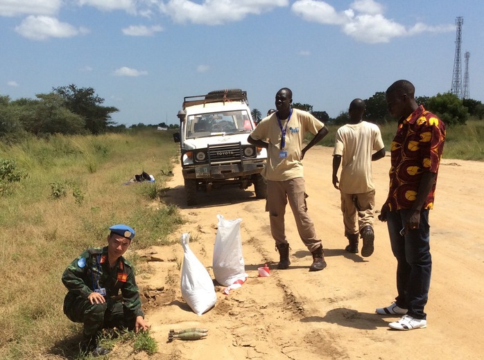
[[[325,126],[309,112],[299,109],[292,109],[289,120],[280,120],[282,129],[286,128],[284,149],[281,148],[282,129],[277,121],[277,113],[263,118],[250,134],[254,140],[269,143],[268,161],[261,174],[271,181],[286,181],[303,177],[301,154],[304,134],[311,132],[316,135]],[[281,152],[287,152],[286,157],[281,157]]]

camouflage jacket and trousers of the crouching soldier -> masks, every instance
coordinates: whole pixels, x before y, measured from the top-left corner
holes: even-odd
[[[64,298],[64,314],[75,323],[84,323],[84,336],[95,336],[107,327],[132,330],[137,316],[144,317],[130,262],[121,256],[111,269],[107,246],[83,251],[65,269],[62,282],[69,290]],[[87,300],[94,289],[105,289],[105,303],[91,304]]]

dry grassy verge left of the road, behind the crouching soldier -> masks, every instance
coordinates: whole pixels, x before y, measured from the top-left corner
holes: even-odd
[[[82,327],[62,314],[62,272],[112,224],[137,231],[135,267],[137,249],[170,241],[184,220],[160,195],[177,151],[153,130],[0,143],[0,359],[74,359]],[[155,182],[123,185],[143,171]]]

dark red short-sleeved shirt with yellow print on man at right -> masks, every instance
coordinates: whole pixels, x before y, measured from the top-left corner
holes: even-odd
[[[438,174],[445,141],[445,124],[421,105],[408,118],[401,118],[391,145],[390,210],[411,208],[424,172]],[[435,184],[423,208],[433,208]]]

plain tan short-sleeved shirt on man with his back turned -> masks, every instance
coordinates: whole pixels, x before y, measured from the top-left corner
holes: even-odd
[[[345,194],[362,194],[374,190],[372,153],[383,149],[377,125],[362,121],[346,124],[336,132],[333,155],[340,155],[340,190]]]

